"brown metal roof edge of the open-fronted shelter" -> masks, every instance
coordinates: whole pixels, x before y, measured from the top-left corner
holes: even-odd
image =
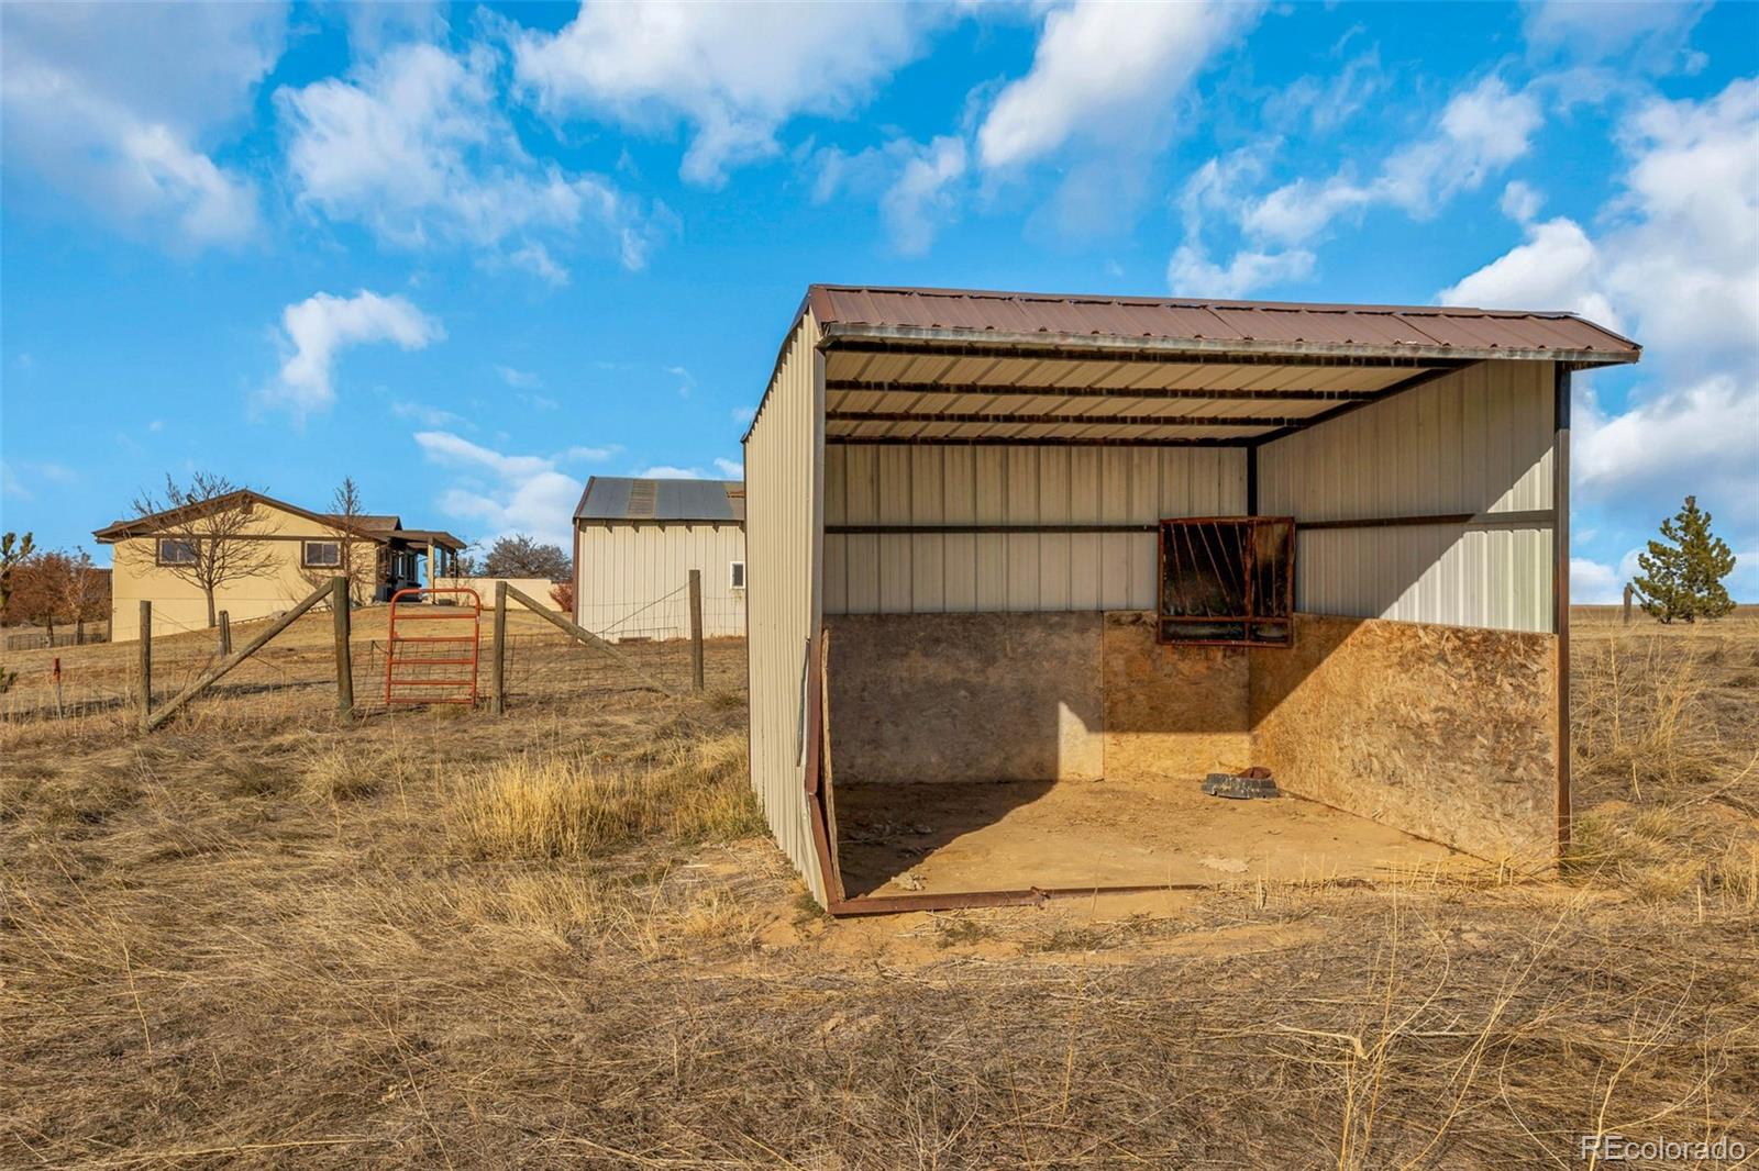
[[[1186,297],[1082,297],[960,288],[813,285],[813,318],[827,336],[1017,345],[1143,341],[1164,348],[1636,362],[1629,338],[1574,313],[1455,306],[1300,304]]]

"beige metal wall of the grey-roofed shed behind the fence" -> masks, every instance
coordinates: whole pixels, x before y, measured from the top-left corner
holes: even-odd
[[[737,524],[580,524],[573,535],[579,596],[573,621],[605,638],[688,638],[690,571],[702,570],[702,629],[746,633],[746,591],[732,563],[746,559]]]

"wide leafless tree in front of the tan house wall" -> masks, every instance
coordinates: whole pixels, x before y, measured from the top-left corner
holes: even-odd
[[[215,591],[274,570],[274,547],[260,535],[250,492],[225,476],[197,471],[183,485],[167,473],[165,498],[142,492],[134,510],[153,520],[153,540],[169,542],[160,568],[208,598],[209,628],[218,624]]]

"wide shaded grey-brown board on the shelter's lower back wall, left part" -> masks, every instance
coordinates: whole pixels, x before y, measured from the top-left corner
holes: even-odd
[[[1099,779],[1103,621],[828,615],[837,782]]]

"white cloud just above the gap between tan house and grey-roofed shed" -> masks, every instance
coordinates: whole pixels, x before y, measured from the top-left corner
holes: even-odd
[[[556,471],[554,459],[507,455],[449,431],[419,431],[415,443],[457,476],[440,492],[440,510],[485,529],[485,543],[514,533],[563,549],[573,543],[570,529],[582,485]]]

